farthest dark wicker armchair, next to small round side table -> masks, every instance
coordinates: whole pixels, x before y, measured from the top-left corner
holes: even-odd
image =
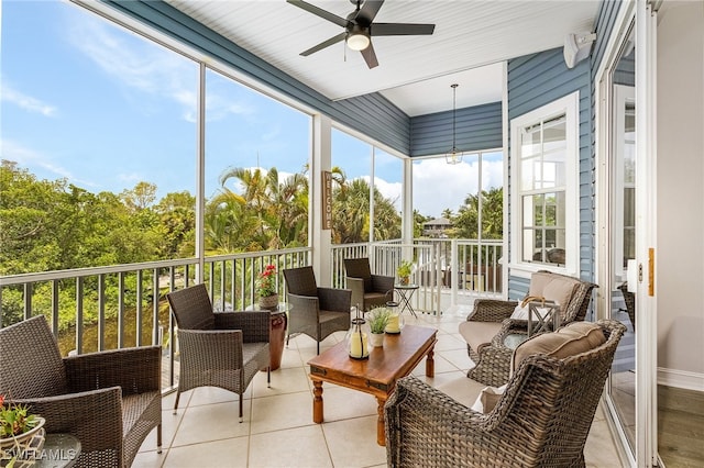
[[[386,305],[393,299],[394,277],[372,275],[369,258],[345,258],[346,285],[352,290],[352,304],[367,311]]]

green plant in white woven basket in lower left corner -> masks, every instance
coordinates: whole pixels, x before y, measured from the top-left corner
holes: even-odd
[[[10,459],[9,466],[31,456],[29,447],[40,450],[44,445],[44,417],[29,411],[28,405],[13,404],[0,395],[0,460]]]

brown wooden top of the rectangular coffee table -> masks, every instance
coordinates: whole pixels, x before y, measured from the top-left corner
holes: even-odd
[[[407,376],[420,359],[435,346],[436,328],[406,325],[400,333],[384,336],[383,347],[373,347],[366,359],[353,359],[348,353],[348,343],[341,342],[308,361],[311,379],[328,378],[341,383],[339,376],[364,379],[369,386],[393,387],[396,379]],[[329,378],[337,375],[337,378]]]

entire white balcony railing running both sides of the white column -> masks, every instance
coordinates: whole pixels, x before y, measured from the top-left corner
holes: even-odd
[[[305,247],[207,257],[200,280],[208,285],[216,310],[243,310],[256,303],[255,279],[267,265],[280,272],[309,265],[311,249]],[[502,292],[501,241],[337,245],[331,249],[333,287],[345,287],[344,258],[358,257],[370,257],[372,270],[388,276],[396,276],[402,259],[413,260],[411,282],[419,285],[414,308],[424,312],[439,313],[442,296],[454,303],[458,294]],[[63,355],[161,345],[163,387],[168,389],[176,382],[178,361],[165,294],[195,283],[197,264],[188,258],[0,277],[0,326],[44,314]],[[283,275],[277,290],[283,297]]]

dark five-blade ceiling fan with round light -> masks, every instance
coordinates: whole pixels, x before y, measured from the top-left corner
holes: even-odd
[[[300,53],[304,57],[321,51],[332,44],[345,41],[348,46],[353,51],[360,51],[362,57],[370,68],[378,65],[374,46],[372,45],[372,36],[404,36],[404,35],[430,35],[436,29],[435,24],[415,24],[415,23],[374,23],[374,18],[384,4],[384,0],[350,0],[356,9],[348,14],[348,18],[340,18],[327,10],[318,8],[314,4],[306,3],[302,0],[286,0],[288,3],[306,10],[309,13],[328,20],[339,26],[344,27],[344,32],[330,37],[320,44],[310,47]]]

